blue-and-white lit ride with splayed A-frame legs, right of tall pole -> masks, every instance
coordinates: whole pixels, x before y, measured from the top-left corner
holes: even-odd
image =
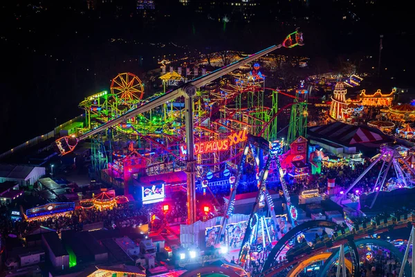
[[[284,196],[286,197],[289,217],[292,220],[293,226],[295,225],[296,215],[295,212],[291,212],[291,208],[295,209],[295,207],[291,206],[291,198],[284,179],[284,172],[281,164],[279,163],[279,157],[283,151],[283,141],[273,141],[270,143],[261,136],[248,135],[241,163],[238,166],[237,176],[234,179],[234,186],[231,187],[230,190],[230,197],[225,209],[225,215],[223,215],[215,240],[216,245],[220,245],[221,241],[223,242],[224,240],[223,233],[227,228],[228,219],[234,210],[234,201],[237,195],[239,181],[241,179],[241,172],[246,166],[246,157],[248,157],[248,152],[251,152],[257,166],[258,193],[243,236],[241,249],[239,251],[239,262],[241,263],[246,262],[248,257],[252,256],[252,253],[268,254],[270,249],[272,249],[273,235],[271,234],[276,234],[281,231],[279,230],[281,222],[277,220],[273,200],[266,186],[266,181],[268,175],[270,174],[270,168],[272,165],[277,169],[276,174],[279,176],[279,181],[282,184],[282,190],[284,192]],[[286,226],[286,222],[283,222],[283,224]],[[281,234],[279,237],[281,237]]]

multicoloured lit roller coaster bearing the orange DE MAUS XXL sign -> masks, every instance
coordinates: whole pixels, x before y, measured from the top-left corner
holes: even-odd
[[[223,145],[232,134],[240,136],[240,132],[246,132],[261,134],[268,140],[276,139],[277,115],[292,105],[286,105],[278,111],[277,95],[291,97],[294,101],[297,99],[288,93],[264,87],[265,76],[259,71],[259,64],[254,64],[252,71],[248,73],[231,76],[221,78],[221,86],[210,82],[203,90],[196,91],[194,140],[197,143],[196,160],[199,176],[208,172],[219,174],[226,168],[237,168],[243,140]],[[237,78],[234,78],[235,76]],[[131,105],[138,105],[140,101],[149,102],[162,95],[156,94],[142,100],[141,88],[142,84],[136,75],[122,73],[114,78],[111,93],[102,91],[85,98],[80,107],[86,113],[86,127],[80,130],[80,134],[117,118]],[[265,90],[273,91],[271,107],[264,106]],[[133,93],[139,93],[139,97],[131,96]],[[107,134],[101,133],[101,139],[93,140],[95,172],[99,175],[109,164],[111,176],[124,179],[121,165],[126,159],[129,160],[128,157],[131,157],[133,150],[145,157],[147,175],[183,170],[186,150],[183,106],[181,99],[170,101],[111,127]],[[106,146],[103,141],[107,141]],[[111,154],[104,155],[106,151]]]

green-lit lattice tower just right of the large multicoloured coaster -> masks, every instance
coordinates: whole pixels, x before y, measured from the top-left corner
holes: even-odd
[[[307,100],[308,90],[304,89],[304,81],[295,91],[294,105],[291,107],[290,125],[288,127],[287,145],[290,145],[297,137],[307,136]]]

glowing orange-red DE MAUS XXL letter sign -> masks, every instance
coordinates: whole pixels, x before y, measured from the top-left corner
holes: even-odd
[[[205,141],[202,143],[195,143],[194,154],[225,151],[228,150],[230,146],[236,145],[242,141],[246,141],[247,139],[246,130],[242,130],[237,133],[230,134],[226,139],[221,139],[219,141]]]

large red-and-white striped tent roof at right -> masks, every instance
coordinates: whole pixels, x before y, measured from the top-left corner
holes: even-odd
[[[374,128],[349,125],[338,121],[328,125],[310,127],[312,135],[346,145],[384,140],[389,141],[388,136],[379,134],[380,131],[376,132],[377,130],[375,130]]]

